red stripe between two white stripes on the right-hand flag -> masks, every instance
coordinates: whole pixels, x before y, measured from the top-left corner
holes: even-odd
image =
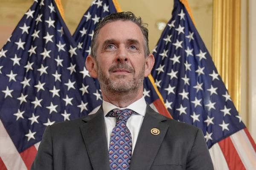
[[[241,161],[234,144],[230,137],[218,142],[222,153],[227,161],[227,165],[230,170],[245,170],[244,164]]]

